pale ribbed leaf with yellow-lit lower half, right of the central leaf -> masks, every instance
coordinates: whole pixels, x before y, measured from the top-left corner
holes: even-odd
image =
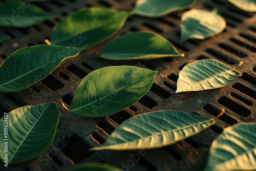
[[[176,93],[220,88],[240,74],[217,60],[198,60],[188,63],[180,71]]]

